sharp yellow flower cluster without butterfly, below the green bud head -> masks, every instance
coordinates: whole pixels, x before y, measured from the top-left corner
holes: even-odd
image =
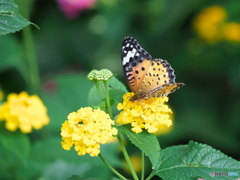
[[[67,119],[61,128],[62,148],[70,150],[75,145],[78,155],[97,156],[100,144],[117,135],[117,129],[112,128],[114,121],[100,109],[81,108],[70,113]]]

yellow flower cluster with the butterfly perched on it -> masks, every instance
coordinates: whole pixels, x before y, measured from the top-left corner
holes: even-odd
[[[135,133],[147,129],[149,133],[158,131],[158,125],[172,125],[170,114],[172,110],[164,104],[168,97],[148,98],[141,101],[130,101],[134,93],[126,93],[123,103],[118,104],[118,110],[122,110],[117,122],[120,124],[131,123],[132,131]]]

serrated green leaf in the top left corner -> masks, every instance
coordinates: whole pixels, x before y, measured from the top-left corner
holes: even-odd
[[[18,11],[19,7],[13,0],[0,0],[0,35],[14,33],[32,24]]]

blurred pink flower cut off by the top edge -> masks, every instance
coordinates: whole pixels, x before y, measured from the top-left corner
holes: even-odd
[[[74,19],[81,10],[91,8],[96,0],[56,0],[65,16]]]

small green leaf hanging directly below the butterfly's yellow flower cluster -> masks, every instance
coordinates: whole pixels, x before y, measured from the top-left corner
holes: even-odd
[[[153,167],[157,165],[160,145],[154,134],[150,134],[146,131],[135,133],[131,130],[130,125],[116,126],[116,128],[120,132],[126,134],[129,140],[149,157]]]

